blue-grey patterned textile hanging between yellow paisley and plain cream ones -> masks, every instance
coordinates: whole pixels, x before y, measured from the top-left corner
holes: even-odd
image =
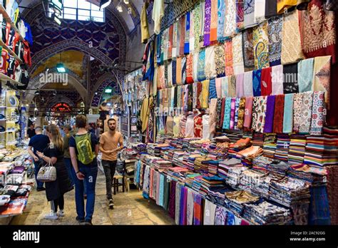
[[[269,37],[269,63],[270,66],[280,65],[282,53],[282,16],[276,16],[267,22],[267,34]]]

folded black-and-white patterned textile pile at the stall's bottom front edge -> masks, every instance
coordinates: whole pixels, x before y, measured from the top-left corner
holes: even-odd
[[[254,224],[290,224],[292,221],[290,210],[265,201],[245,204],[243,217]]]

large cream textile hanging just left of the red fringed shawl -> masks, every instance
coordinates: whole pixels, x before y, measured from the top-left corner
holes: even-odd
[[[304,59],[304,54],[300,44],[299,18],[296,10],[283,15],[281,62],[285,65],[302,59]]]

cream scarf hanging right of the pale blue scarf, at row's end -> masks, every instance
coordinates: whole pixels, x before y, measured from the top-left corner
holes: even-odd
[[[323,91],[329,109],[331,56],[314,58],[313,90]]]

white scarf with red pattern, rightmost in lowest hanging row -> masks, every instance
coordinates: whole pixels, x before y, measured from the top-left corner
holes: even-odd
[[[324,92],[316,91],[313,93],[312,120],[310,135],[322,135],[324,125]]]

